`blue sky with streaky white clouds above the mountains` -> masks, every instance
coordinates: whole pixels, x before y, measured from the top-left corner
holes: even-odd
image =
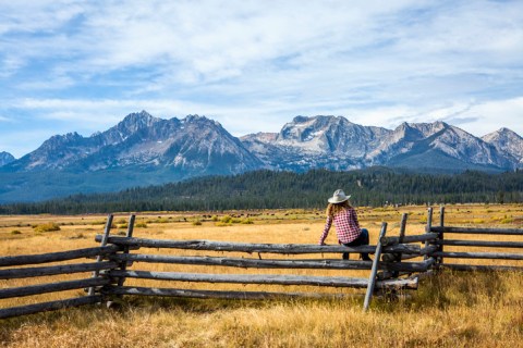
[[[523,1],[0,0],[0,151],[142,110],[523,136]]]

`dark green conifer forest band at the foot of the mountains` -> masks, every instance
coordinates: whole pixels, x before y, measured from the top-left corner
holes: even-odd
[[[123,211],[220,211],[325,208],[337,188],[355,206],[523,202],[523,172],[419,174],[386,167],[350,172],[256,171],[202,177],[120,192],[74,195],[0,206],[1,214],[80,214]]]

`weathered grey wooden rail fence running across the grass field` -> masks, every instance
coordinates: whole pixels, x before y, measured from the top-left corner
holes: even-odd
[[[520,241],[485,241],[485,240],[455,240],[445,239],[448,234],[473,233],[489,235],[518,235],[523,236],[521,229],[500,228],[465,228],[445,226],[445,208],[440,210],[440,224],[433,226],[433,209],[428,209],[425,233],[421,235],[406,235],[408,214],[403,214],[399,236],[386,236],[387,223],[382,223],[380,235],[376,245],[362,247],[344,246],[317,246],[297,244],[245,244],[209,240],[166,240],[133,237],[135,215],[130,216],[126,235],[115,236],[110,234],[112,214],[108,216],[105,233],[97,235],[95,240],[99,247],[52,252],[45,254],[0,257],[0,279],[27,278],[39,276],[63,275],[70,273],[92,272],[90,277],[74,281],[61,281],[31,286],[0,288],[0,300],[13,297],[41,295],[71,289],[85,289],[87,295],[66,298],[58,301],[40,302],[26,306],[0,308],[0,319],[37,313],[41,311],[58,310],[62,308],[84,304],[111,302],[123,295],[133,296],[168,296],[192,298],[226,298],[226,299],[266,299],[281,297],[336,297],[343,298],[344,293],[319,291],[320,287],[331,288],[365,288],[364,310],[367,310],[374,294],[385,291],[394,294],[402,289],[416,289],[418,275],[427,274],[431,270],[450,268],[453,270],[520,270],[522,268],[502,265],[473,265],[443,263],[446,258],[459,259],[502,259],[523,260],[523,253],[500,252],[461,252],[447,251],[443,246],[453,247],[492,247],[492,248],[523,248]],[[155,249],[158,253],[137,253],[136,250]],[[133,251],[133,252],[132,252]],[[341,260],[343,252],[374,254],[373,261]],[[308,254],[308,258],[301,258]],[[324,258],[324,254],[327,254]],[[336,259],[331,256],[335,254]],[[299,258],[296,258],[296,256]],[[319,257],[318,257],[319,256]],[[328,257],[330,256],[330,258]],[[93,262],[63,263],[77,259],[95,259]],[[53,265],[31,266],[26,265],[53,262]],[[141,269],[136,266],[139,264]],[[144,265],[163,264],[207,266],[210,272],[222,268],[236,268],[250,273],[194,273],[175,271],[150,271]],[[20,268],[23,266],[23,268]],[[256,269],[287,270],[368,270],[368,277],[351,277],[343,275],[303,275],[303,274],[265,274],[256,273]],[[207,270],[207,269],[206,269]],[[303,273],[303,272],[302,272]],[[133,284],[125,285],[127,279]],[[163,281],[175,286],[153,287],[149,281]],[[142,282],[142,283],[139,283]],[[227,284],[229,287],[241,284],[242,287],[256,284],[265,287],[300,286],[311,287],[313,291],[269,291],[269,290],[242,290],[233,289],[195,289],[181,286],[187,282],[194,286],[199,283]],[[156,283],[156,282],[153,282]],[[1,303],[1,302],[0,302]]]

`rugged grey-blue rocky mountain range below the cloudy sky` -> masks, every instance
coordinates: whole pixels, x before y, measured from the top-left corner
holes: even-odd
[[[0,153],[0,202],[114,191],[259,169],[349,171],[375,165],[423,172],[523,167],[523,138],[500,128],[481,138],[443,122],[362,126],[343,116],[296,116],[279,133],[234,137],[218,122],[132,113],[106,132],[56,135],[15,160]]]

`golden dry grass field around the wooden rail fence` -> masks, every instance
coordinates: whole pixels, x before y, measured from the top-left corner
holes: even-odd
[[[387,235],[393,236],[399,233],[402,213],[409,213],[406,234],[424,233],[427,220],[426,207],[358,208],[357,211],[361,224],[370,232],[370,244],[376,244],[382,221],[389,224]],[[439,210],[435,209],[435,225],[439,223],[438,212]],[[124,234],[127,215],[117,214],[113,233]],[[105,219],[104,215],[0,216],[0,256],[42,253],[97,246],[94,238],[96,234],[102,233]],[[324,220],[323,211],[303,210],[139,213],[134,236],[157,239],[316,244]],[[447,206],[445,221],[447,225],[521,228],[523,206]],[[57,226],[59,229],[56,228]],[[463,237],[460,236],[460,238]],[[479,239],[477,236],[467,238]],[[498,240],[518,240],[514,236],[497,238]],[[490,237],[490,240],[496,238]],[[336,244],[333,231],[327,243]],[[452,248],[446,248],[446,250],[452,250]],[[482,248],[470,248],[470,250],[490,251]],[[497,251],[515,252],[516,250],[498,249]],[[147,253],[166,253],[166,250],[149,249]],[[523,265],[519,261],[469,260],[467,263]],[[139,269],[147,266],[148,270],[154,271],[183,269],[184,272],[202,272],[197,266],[192,266],[193,270],[186,265],[138,264],[134,266]],[[209,272],[212,272],[212,268]],[[221,272],[242,273],[242,270],[230,269]],[[278,271],[260,270],[259,272],[273,274]],[[309,270],[300,272],[317,275],[326,273]],[[345,273],[345,275],[367,277],[368,271],[350,271],[350,274]],[[78,275],[53,278],[78,278]],[[0,288],[38,282],[42,279],[0,281]],[[169,284],[161,284],[162,282],[153,282],[146,284],[169,286]],[[522,283],[521,272],[446,271],[422,279],[419,289],[411,291],[411,297],[397,302],[375,298],[372,310],[367,313],[362,312],[363,299],[360,297],[344,300],[265,301],[133,297],[125,298],[119,310],[84,307],[0,321],[0,346],[518,347],[521,346],[523,338]],[[129,281],[129,284],[132,285],[132,281]],[[184,284],[184,286],[208,289],[239,288],[238,285],[212,284]],[[267,286],[253,285],[243,288],[269,289]],[[278,286],[270,287],[270,290],[283,289],[294,290],[292,287],[280,289]],[[302,289],[295,288],[295,290]],[[311,287],[308,290],[317,289]],[[323,291],[362,294],[362,290],[352,289]],[[66,294],[4,299],[0,300],[0,308],[83,294],[75,290]]]

